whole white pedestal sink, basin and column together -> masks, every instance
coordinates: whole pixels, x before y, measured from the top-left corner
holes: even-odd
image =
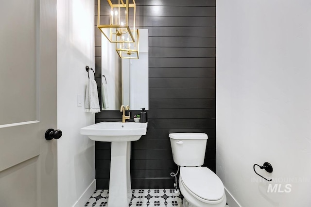
[[[146,135],[147,123],[100,122],[83,127],[80,133],[91,140],[111,142],[108,207],[128,207],[131,197],[131,141]]]

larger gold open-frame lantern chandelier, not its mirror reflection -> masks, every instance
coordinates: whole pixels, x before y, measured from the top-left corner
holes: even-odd
[[[101,24],[101,0],[98,0],[98,16],[97,27],[111,43],[134,43],[136,35],[135,19],[136,19],[136,3],[135,0],[107,0],[110,5],[110,21],[109,24]],[[131,1],[131,2],[129,2]],[[133,29],[130,29],[129,14],[133,14]],[[108,23],[108,22],[106,22]]]

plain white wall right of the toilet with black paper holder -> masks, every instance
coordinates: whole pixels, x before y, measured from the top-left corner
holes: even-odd
[[[311,206],[311,1],[217,0],[216,10],[217,174],[242,207]],[[291,192],[254,181],[265,161],[273,173],[258,171]]]

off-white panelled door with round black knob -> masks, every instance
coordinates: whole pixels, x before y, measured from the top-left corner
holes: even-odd
[[[57,206],[56,0],[0,6],[0,206]]]

